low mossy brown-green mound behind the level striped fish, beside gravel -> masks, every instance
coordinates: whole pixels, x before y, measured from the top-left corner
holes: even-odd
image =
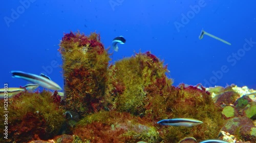
[[[201,85],[181,84],[179,87],[170,87],[163,99],[165,100],[162,106],[165,108],[159,117],[194,118],[203,121],[203,124],[190,128],[159,126],[159,133],[164,140],[178,142],[188,136],[193,136],[198,141],[216,138],[224,121],[221,117],[221,108],[214,104],[210,93]]]

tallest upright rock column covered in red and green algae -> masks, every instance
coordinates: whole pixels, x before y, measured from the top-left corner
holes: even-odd
[[[100,36],[79,32],[65,34],[59,52],[63,60],[63,76],[67,110],[80,116],[103,108],[106,70],[110,60]]]

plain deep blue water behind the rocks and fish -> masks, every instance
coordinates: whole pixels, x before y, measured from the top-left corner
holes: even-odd
[[[63,33],[79,30],[86,35],[100,33],[105,48],[114,37],[124,36],[126,43],[119,45],[118,52],[110,49],[111,63],[151,51],[168,65],[174,85],[234,83],[256,89],[256,44],[243,49],[245,39],[256,41],[256,1],[205,0],[196,12],[192,7],[203,1],[33,1],[26,0],[27,8],[22,5],[25,1],[0,5],[0,88],[4,83],[9,87],[28,83],[12,78],[12,70],[45,73],[63,87],[58,44]],[[20,12],[14,19],[13,10]],[[191,14],[189,21],[177,28],[175,23],[182,24],[187,14]],[[231,46],[208,36],[199,40],[202,29]],[[237,52],[239,60],[229,57]],[[221,74],[222,66],[226,69]]]

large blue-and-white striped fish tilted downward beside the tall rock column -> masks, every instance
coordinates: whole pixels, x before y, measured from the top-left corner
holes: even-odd
[[[11,71],[12,73],[12,77],[16,77],[16,78],[22,78],[25,80],[28,80],[30,82],[33,82],[35,84],[38,84],[39,86],[46,88],[46,89],[51,89],[51,90],[56,90],[56,91],[60,91],[62,90],[60,88],[60,86],[53,82],[52,80],[39,76],[39,75],[35,75],[35,74],[31,74],[31,73],[26,73],[26,72],[22,72],[22,71]]]

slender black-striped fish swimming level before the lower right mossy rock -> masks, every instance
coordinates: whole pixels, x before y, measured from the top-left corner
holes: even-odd
[[[157,122],[160,125],[169,125],[169,126],[184,126],[191,127],[195,125],[202,124],[202,121],[192,118],[174,118],[174,119],[164,119]]]

